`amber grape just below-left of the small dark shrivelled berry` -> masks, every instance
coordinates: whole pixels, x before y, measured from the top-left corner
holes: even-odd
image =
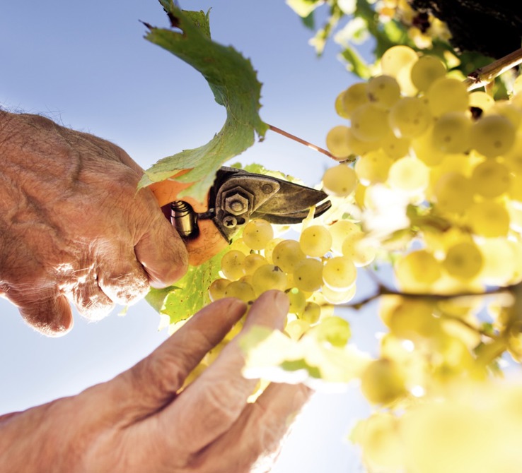
[[[443,114],[433,126],[434,147],[448,154],[467,151],[470,148],[471,126],[469,116],[463,112]]]

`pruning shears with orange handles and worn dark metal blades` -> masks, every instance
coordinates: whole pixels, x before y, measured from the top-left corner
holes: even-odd
[[[190,184],[167,179],[150,188],[185,241],[191,265],[200,265],[219,253],[254,218],[272,224],[300,223],[313,205],[314,217],[332,205],[329,200],[320,203],[327,198],[323,191],[233,167],[219,169],[204,203],[178,198]]]

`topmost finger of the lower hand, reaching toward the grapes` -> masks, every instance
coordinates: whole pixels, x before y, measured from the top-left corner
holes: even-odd
[[[118,400],[116,408],[110,402],[101,402],[100,406],[106,406],[106,414],[115,421],[125,423],[158,412],[173,399],[189,373],[225,337],[245,310],[239,299],[220,299],[209,304],[149,357],[110,381],[112,398]]]

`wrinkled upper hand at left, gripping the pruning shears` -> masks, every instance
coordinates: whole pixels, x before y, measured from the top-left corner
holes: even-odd
[[[187,252],[124,150],[0,111],[0,295],[47,335],[171,285]]]

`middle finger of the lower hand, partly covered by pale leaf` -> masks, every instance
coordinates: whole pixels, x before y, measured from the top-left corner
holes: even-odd
[[[282,328],[288,308],[286,294],[265,292],[250,308],[242,333],[251,325]],[[238,337],[172,405],[163,410],[163,420],[167,425],[191,426],[190,431],[182,432],[182,436],[170,436],[169,440],[176,448],[198,452],[228,431],[245,408],[256,381],[242,375],[245,359]]]

